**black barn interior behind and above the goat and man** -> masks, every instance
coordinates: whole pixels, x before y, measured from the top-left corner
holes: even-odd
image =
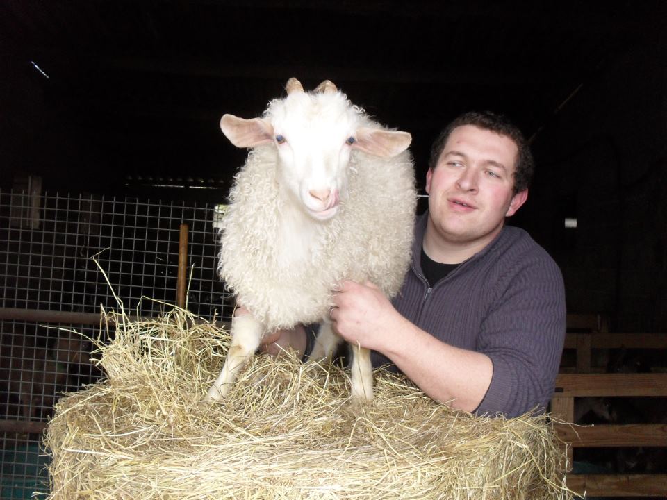
[[[245,151],[220,117],[261,114],[290,76],[411,132],[423,186],[440,128],[491,109],[532,138],[511,223],[570,312],[667,331],[666,19],[658,0],[3,0],[0,187],[222,202]]]

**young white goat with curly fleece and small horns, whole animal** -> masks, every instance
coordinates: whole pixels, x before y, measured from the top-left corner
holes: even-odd
[[[231,190],[219,268],[251,314],[233,318],[213,400],[278,328],[320,322],[311,359],[331,356],[341,341],[329,317],[336,283],[369,280],[394,297],[409,265],[411,135],[373,122],[328,80],[304,92],[290,78],[286,90],[261,118],[220,121],[232,144],[253,148]],[[352,396],[370,401],[370,351],[352,353]]]

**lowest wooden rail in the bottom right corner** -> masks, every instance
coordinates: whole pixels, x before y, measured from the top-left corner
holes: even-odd
[[[662,497],[667,474],[568,474],[568,488],[586,497]]]

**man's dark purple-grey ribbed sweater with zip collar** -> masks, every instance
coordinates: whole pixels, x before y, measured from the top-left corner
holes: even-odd
[[[504,226],[484,250],[429,288],[420,265],[427,217],[418,218],[410,269],[393,305],[443,342],[491,358],[493,377],[477,414],[545,410],[566,331],[559,267],[528,233]],[[410,349],[409,339],[405,344]],[[377,352],[372,360],[391,363]]]

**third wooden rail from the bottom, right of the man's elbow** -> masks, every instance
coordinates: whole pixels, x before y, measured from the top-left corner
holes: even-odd
[[[554,398],[667,396],[667,374],[559,374]]]

